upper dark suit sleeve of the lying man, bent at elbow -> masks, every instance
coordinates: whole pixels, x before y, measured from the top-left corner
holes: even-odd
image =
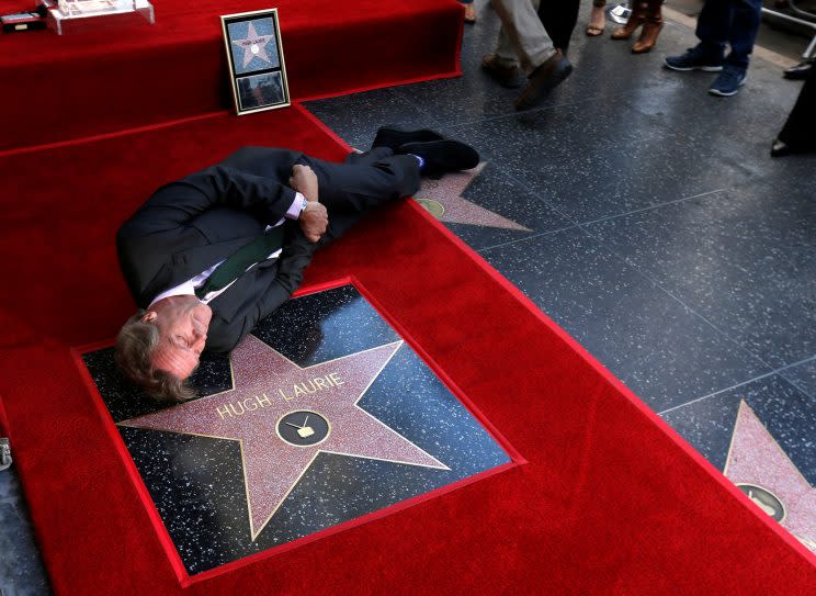
[[[161,187],[122,232],[144,236],[177,230],[218,206],[246,211],[271,225],[294,200],[295,191],[275,180],[218,165]]]

